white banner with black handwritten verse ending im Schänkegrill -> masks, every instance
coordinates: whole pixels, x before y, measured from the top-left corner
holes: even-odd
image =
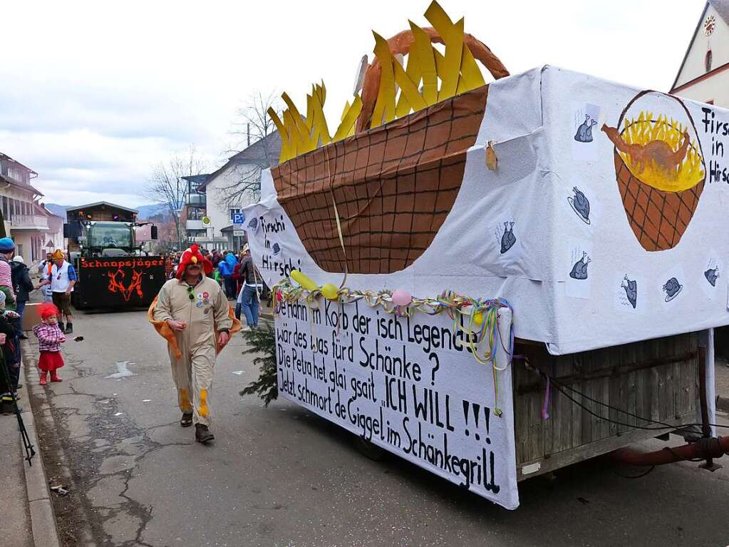
[[[278,392],[422,468],[493,500],[519,505],[509,346],[496,371],[471,354],[446,314],[397,317],[364,300],[278,303]],[[487,346],[488,347],[488,346]],[[316,352],[313,349],[316,348]],[[498,386],[498,398],[496,389]]]

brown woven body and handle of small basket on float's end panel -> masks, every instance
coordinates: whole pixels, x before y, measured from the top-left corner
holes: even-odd
[[[646,93],[650,92],[639,93],[625,106],[620,115],[618,128],[623,124],[625,112],[628,111],[631,104]],[[679,99],[676,98],[676,101],[681,104],[695,134],[695,126],[690,113]],[[625,128],[621,130],[621,134],[624,131]],[[698,147],[701,147],[698,139],[697,143]],[[704,169],[703,178],[695,186],[682,192],[666,192],[639,180],[625,165],[625,161],[617,149],[614,154],[617,187],[620,190],[620,197],[623,199],[628,222],[639,243],[647,251],[664,251],[676,247],[698,206],[698,199],[701,197],[706,182],[706,169]]]

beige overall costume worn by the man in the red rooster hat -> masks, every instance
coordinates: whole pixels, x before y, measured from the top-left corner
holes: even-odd
[[[176,357],[172,347],[169,350],[177,402],[182,412],[192,411],[192,422],[210,425],[211,388],[217,355],[215,329],[230,329],[233,325],[225,294],[214,279],[204,275],[192,290],[184,280],[170,279],[157,296],[154,319],[187,323],[182,332],[174,333],[181,356]]]

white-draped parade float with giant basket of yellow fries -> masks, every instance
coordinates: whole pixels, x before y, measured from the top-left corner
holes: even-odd
[[[270,112],[281,161],[245,214],[278,392],[506,508],[599,454],[714,468],[729,112],[510,76],[462,19],[425,18],[375,34],[333,132],[323,84]],[[669,432],[668,455],[625,448]]]

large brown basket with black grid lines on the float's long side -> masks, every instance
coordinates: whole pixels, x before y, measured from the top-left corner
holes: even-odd
[[[487,96],[484,85],[271,169],[320,268],[390,274],[423,254],[456,201]]]

